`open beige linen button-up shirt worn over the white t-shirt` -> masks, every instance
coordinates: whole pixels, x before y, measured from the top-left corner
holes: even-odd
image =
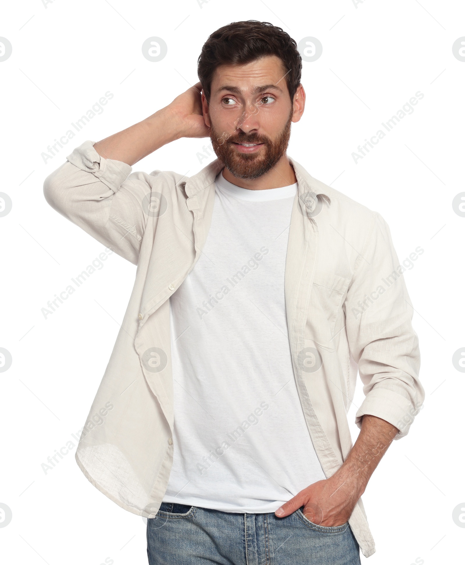
[[[150,518],[173,460],[169,297],[202,253],[222,164],[215,160],[189,179],[131,173],[128,164],[100,157],[91,141],[67,159],[45,180],[47,202],[137,264],[76,460],[113,502]],[[346,413],[357,368],[366,397],[356,423],[372,414],[400,429],[397,438],[407,434],[424,399],[418,338],[383,218],[289,161],[299,182],[284,282],[289,345],[308,431],[330,477],[352,447]],[[349,524],[362,553],[374,553],[361,500]]]

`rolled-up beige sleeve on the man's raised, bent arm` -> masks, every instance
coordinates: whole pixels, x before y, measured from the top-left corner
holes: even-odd
[[[47,202],[117,254],[137,264],[146,216],[141,202],[150,193],[147,175],[131,175],[121,161],[104,159],[85,141],[43,184]]]

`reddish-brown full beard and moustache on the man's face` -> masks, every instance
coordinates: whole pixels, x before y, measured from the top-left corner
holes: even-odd
[[[265,175],[279,159],[286,154],[289,138],[291,137],[292,112],[289,114],[286,125],[275,140],[259,135],[258,133],[247,134],[243,131],[227,138],[222,144],[220,141],[224,134],[220,135],[213,127],[210,128],[210,140],[213,150],[220,161],[236,177],[236,179],[258,179]],[[264,147],[260,153],[239,153],[234,143],[262,143]]]

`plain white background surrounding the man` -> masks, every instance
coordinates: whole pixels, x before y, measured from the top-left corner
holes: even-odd
[[[363,497],[376,541],[371,565],[463,563],[465,375],[452,364],[465,346],[463,233],[452,201],[464,192],[465,61],[452,45],[465,36],[465,5],[433,0],[278,2],[42,0],[3,3],[0,36],[12,55],[0,62],[2,188],[12,211],[0,218],[0,347],[12,366],[0,373],[0,528],[3,563],[147,563],[145,525],[85,479],[75,448],[46,474],[41,464],[84,425],[134,281],[135,266],[111,255],[47,319],[47,301],[103,251],[57,214],[43,180],[72,149],[146,118],[194,84],[209,33],[244,19],[270,21],[299,42],[317,37],[321,58],[304,62],[305,114],[293,125],[289,155],[310,174],[380,212],[398,258],[424,249],[405,273],[422,351],[424,408],[396,441]],[[162,37],[160,62],[142,56]],[[41,153],[107,91],[114,97],[58,155]],[[351,156],[416,92],[424,98],[357,164]],[[188,176],[208,140],[179,140],[134,170]],[[362,400],[357,389],[353,424]],[[1,525],[1,523],[0,523]],[[418,559],[420,558],[420,559]],[[362,557],[362,562],[365,558]]]

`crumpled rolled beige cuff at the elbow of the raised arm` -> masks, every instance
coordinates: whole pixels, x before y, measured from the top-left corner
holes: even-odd
[[[85,141],[74,149],[67,159],[82,171],[92,173],[97,179],[106,184],[109,189],[116,192],[124,182],[132,167],[128,163],[113,159],[104,159],[94,149],[95,141]]]

